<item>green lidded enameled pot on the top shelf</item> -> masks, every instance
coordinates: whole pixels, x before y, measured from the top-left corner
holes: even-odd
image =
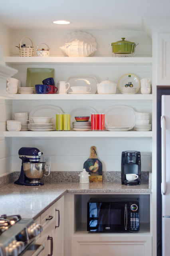
[[[135,47],[138,43],[132,43],[126,41],[123,37],[122,40],[117,41],[115,43],[111,43],[112,52],[115,54],[131,54],[134,53]]]

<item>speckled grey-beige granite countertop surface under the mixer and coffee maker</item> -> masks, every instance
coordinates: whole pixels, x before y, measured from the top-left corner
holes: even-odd
[[[22,218],[38,218],[49,206],[65,193],[110,193],[150,194],[149,184],[136,186],[121,185],[120,182],[79,182],[45,183],[43,186],[20,186],[9,184],[0,188],[0,216],[20,214]]]

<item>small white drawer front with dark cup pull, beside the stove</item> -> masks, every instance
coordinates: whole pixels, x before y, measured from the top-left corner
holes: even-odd
[[[43,229],[46,228],[53,220],[55,220],[55,207],[52,205],[40,216]]]

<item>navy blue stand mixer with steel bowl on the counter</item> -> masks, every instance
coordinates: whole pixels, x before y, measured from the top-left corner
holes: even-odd
[[[38,148],[22,147],[18,151],[19,158],[22,160],[20,177],[14,183],[26,186],[43,185],[42,176],[50,174],[50,166],[45,162],[40,162],[41,155]],[[48,167],[48,174],[45,175],[45,167]]]

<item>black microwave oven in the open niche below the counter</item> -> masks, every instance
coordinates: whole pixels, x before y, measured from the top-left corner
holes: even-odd
[[[87,231],[139,231],[139,199],[91,198],[87,202]]]

